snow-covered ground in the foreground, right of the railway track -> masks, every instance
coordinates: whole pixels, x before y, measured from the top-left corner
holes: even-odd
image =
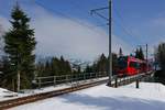
[[[165,86],[140,82],[120,88],[106,85],[12,108],[11,110],[165,110]]]

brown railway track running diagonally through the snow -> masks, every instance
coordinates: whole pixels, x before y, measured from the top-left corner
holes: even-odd
[[[74,87],[69,87],[69,88],[64,88],[64,89],[59,89],[59,90],[42,92],[42,94],[31,95],[31,96],[26,96],[26,97],[20,97],[20,98],[15,98],[15,99],[6,100],[6,101],[0,101],[0,110],[6,110],[9,108],[13,108],[16,106],[34,102],[37,100],[43,100],[46,98],[52,98],[55,96],[61,96],[64,94],[68,94],[68,92],[81,90],[85,88],[98,86],[101,84],[106,84],[107,81],[108,81],[108,79],[103,79],[103,80],[94,81],[94,82],[89,82],[89,84],[82,84],[82,85],[78,85],[78,86],[74,86]]]

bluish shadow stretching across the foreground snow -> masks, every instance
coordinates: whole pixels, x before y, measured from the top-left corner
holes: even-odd
[[[70,94],[63,98],[67,103],[78,103],[87,107],[95,106],[101,108],[101,110],[165,110],[164,101],[130,97],[91,97],[87,95]]]

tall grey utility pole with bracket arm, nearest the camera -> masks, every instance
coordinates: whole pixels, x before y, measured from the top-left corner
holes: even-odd
[[[108,86],[111,86],[112,81],[112,52],[111,52],[111,36],[112,36],[112,0],[108,0],[108,8],[99,8],[91,10],[91,14],[95,13],[96,15],[105,19],[108,22],[109,25],[109,68],[108,68],[108,75],[109,75],[109,81]],[[109,18],[106,18],[105,15],[100,14],[98,11],[109,9]]]

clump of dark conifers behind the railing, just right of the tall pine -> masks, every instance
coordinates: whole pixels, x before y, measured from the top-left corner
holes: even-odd
[[[72,65],[63,56],[52,57],[46,62],[36,63],[35,74],[37,77],[67,75],[72,74]]]

